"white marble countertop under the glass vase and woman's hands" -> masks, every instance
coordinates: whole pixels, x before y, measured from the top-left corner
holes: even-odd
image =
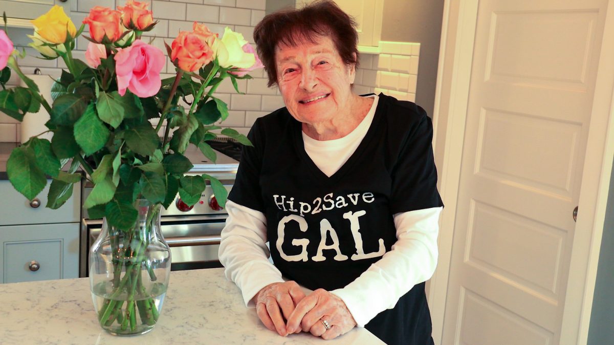
[[[383,344],[364,328],[325,341],[279,336],[247,309],[222,268],[171,272],[158,324],[138,336],[99,325],[88,278],[0,284],[0,343],[12,344]]]

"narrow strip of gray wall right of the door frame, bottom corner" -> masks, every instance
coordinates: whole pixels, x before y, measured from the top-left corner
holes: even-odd
[[[614,342],[614,169],[605,211],[604,235],[601,239],[597,281],[588,329],[588,345]]]

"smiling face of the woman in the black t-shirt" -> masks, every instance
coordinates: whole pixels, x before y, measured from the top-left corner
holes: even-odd
[[[308,124],[330,122],[351,108],[356,69],[343,63],[333,41],[278,45],[275,54],[279,91],[290,114]]]

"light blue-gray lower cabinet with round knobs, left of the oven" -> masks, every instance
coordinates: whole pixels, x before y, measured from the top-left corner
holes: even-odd
[[[60,209],[32,203],[0,180],[0,283],[79,277],[80,184]]]

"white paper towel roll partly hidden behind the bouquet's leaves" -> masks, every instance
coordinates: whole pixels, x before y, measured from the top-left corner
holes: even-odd
[[[36,85],[38,85],[39,90],[41,90],[41,95],[47,100],[47,103],[51,105],[53,103],[51,99],[53,79],[44,74],[29,74],[27,77],[34,80]],[[26,87],[23,80],[20,80],[20,85],[22,87]],[[21,122],[21,142],[26,142],[31,136],[36,136],[37,134],[41,134],[48,130],[48,128],[45,127],[45,123],[49,121],[49,118],[49,113],[43,106],[41,106],[41,109],[36,114],[26,113],[26,115],[23,117],[23,121]],[[53,133],[48,132],[42,134],[38,138],[51,140],[52,136]]]

